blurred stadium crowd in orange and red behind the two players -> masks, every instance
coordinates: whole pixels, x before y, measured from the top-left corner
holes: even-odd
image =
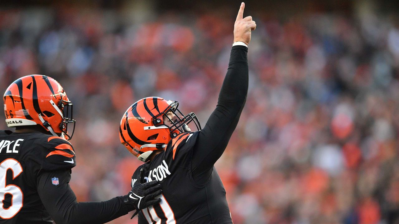
[[[239,3],[2,1],[0,92],[24,75],[59,81],[77,120],[78,200],[126,194],[140,162],[119,143],[123,112],[161,96],[205,124]],[[215,165],[235,224],[399,223],[398,8],[246,1],[249,94]]]

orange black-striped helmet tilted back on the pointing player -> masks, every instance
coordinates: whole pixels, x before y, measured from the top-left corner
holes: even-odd
[[[166,148],[169,141],[182,132],[191,131],[193,122],[201,130],[197,116],[184,116],[179,102],[160,97],[147,97],[130,106],[120,120],[119,139],[130,153],[146,162],[153,151]]]

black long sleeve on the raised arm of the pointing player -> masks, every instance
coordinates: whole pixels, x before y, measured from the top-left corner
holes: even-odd
[[[237,126],[248,92],[247,52],[248,48],[241,45],[231,49],[229,68],[217,106],[199,132],[194,146],[192,175],[196,183],[208,179]]]

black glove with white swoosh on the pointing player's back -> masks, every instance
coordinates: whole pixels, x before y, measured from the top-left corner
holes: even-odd
[[[158,184],[158,181],[143,183],[144,175],[142,174],[142,171],[143,168],[140,170],[140,176],[138,179],[140,185],[134,186],[129,194],[125,195],[123,199],[125,204],[130,204],[136,208],[136,212],[134,212],[130,219],[132,219],[141,209],[161,202],[161,198],[155,198],[162,193],[161,185]]]

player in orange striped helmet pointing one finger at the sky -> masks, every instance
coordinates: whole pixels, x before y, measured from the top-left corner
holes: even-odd
[[[251,16],[241,4],[234,24],[229,68],[218,104],[201,130],[194,113],[184,115],[176,101],[147,97],[130,106],[120,122],[120,141],[145,162],[132,176],[162,186],[160,203],[139,212],[139,224],[232,223],[226,192],[213,165],[223,154],[239,120],[248,91],[247,46]],[[190,124],[191,123],[191,124]],[[188,126],[196,126],[192,132]]]

